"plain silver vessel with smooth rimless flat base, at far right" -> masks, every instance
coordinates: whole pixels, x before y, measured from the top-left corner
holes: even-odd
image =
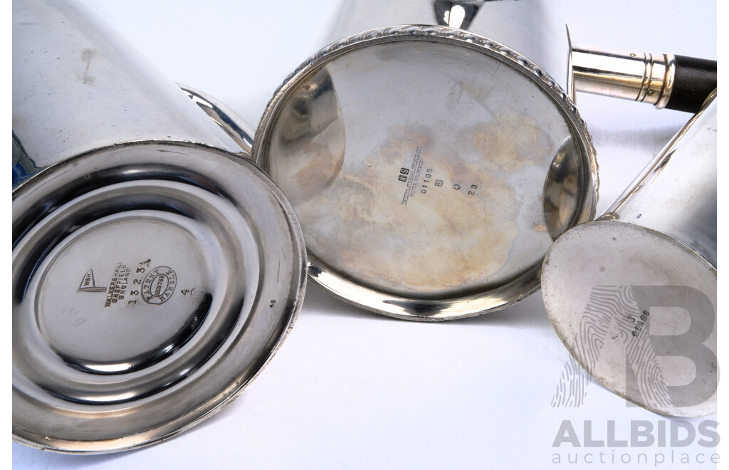
[[[717,411],[717,98],[595,222],[547,252],[542,297],[599,383],[668,415]]]

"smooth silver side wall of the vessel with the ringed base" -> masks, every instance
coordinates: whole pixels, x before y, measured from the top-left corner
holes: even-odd
[[[130,141],[192,141],[241,152],[85,7],[15,1],[12,15],[12,132],[33,172]],[[30,176],[23,172],[14,167],[21,179]]]

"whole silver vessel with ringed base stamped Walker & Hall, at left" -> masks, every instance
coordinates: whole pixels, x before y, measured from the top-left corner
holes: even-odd
[[[294,210],[214,101],[109,31],[74,2],[13,2],[12,433],[67,453],[220,410],[305,287]]]

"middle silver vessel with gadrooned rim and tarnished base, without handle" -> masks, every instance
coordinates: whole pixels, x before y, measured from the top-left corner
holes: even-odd
[[[438,23],[441,3],[398,4],[395,16]],[[461,26],[514,20],[503,29],[524,28],[526,47],[524,36],[542,38],[544,7],[478,3]],[[348,3],[337,24],[374,21],[354,15],[363,8],[381,21],[396,13]],[[597,197],[590,136],[558,83],[509,47],[445,26],[378,28],[324,48],[276,92],[253,154],[300,217],[311,278],[405,319],[522,299],[553,238],[590,219]]]

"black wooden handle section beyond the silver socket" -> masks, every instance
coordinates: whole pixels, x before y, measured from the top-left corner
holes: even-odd
[[[717,87],[717,61],[675,55],[676,77],[666,108],[695,113]]]

